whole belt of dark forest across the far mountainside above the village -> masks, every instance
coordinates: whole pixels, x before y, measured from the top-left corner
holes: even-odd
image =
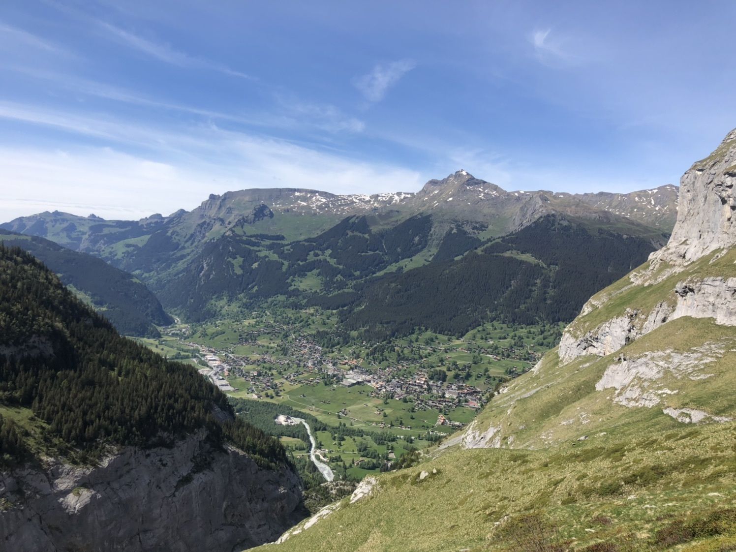
[[[417,329],[461,335],[489,319],[569,322],[588,297],[654,250],[648,238],[570,216],[543,216],[485,247],[477,236],[483,224],[451,222],[431,263],[375,276],[427,250],[433,224],[431,216],[420,215],[380,229],[367,216],[350,216],[319,236],[288,244],[273,239],[283,236],[230,230],[157,291],[195,322],[217,315],[213,298],[257,308],[277,297],[295,308],[339,311],[342,328],[358,331],[359,339],[380,341]],[[306,275],[319,277],[320,289],[293,285]]]

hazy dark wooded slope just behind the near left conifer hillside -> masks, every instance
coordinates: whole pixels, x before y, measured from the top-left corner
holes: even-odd
[[[0,242],[21,247],[55,272],[62,283],[130,336],[158,336],[156,325],[174,322],[158,299],[132,275],[86,253],[68,250],[53,241],[0,229]]]

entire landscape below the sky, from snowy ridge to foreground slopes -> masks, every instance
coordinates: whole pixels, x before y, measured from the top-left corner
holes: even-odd
[[[1,224],[0,542],[736,550],[734,183]]]

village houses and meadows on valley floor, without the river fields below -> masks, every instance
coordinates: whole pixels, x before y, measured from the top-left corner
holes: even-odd
[[[292,313],[278,319],[262,314],[240,324],[219,322],[186,327],[184,332],[173,327],[164,339],[188,350],[203,376],[236,397],[291,399],[319,408],[325,406],[324,400],[319,405],[304,400],[314,394],[310,388],[357,388],[365,398],[436,412],[432,425],[456,428],[468,421],[469,414],[472,418],[500,384],[534,366],[546,349],[539,339],[541,330],[535,335],[534,328],[514,330],[500,324],[477,328],[460,339],[431,333],[394,339],[380,350],[365,343],[324,347],[315,334],[328,325],[325,318]],[[350,406],[319,409],[350,418]],[[470,413],[455,417],[457,409]],[[390,422],[370,423],[386,427]],[[409,429],[417,425],[404,422]]]

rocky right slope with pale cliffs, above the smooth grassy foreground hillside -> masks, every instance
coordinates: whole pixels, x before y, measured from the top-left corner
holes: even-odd
[[[735,183],[733,130],[682,177],[668,244],[588,300],[559,347],[447,446],[539,448],[622,425],[736,420]]]

